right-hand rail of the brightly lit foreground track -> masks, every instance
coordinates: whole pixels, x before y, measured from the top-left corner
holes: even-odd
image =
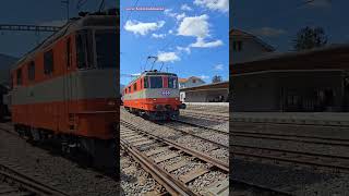
[[[217,159],[215,159],[213,157],[209,157],[209,156],[207,156],[207,155],[205,155],[203,152],[200,152],[200,151],[183,147],[183,146],[179,145],[178,143],[171,142],[171,140],[166,139],[166,138],[161,138],[161,137],[159,137],[157,135],[154,135],[152,133],[143,131],[143,130],[139,128],[137,126],[135,126],[135,125],[133,125],[133,124],[131,124],[131,123],[129,123],[129,122],[127,122],[124,120],[120,120],[120,124],[124,125],[125,127],[129,127],[130,130],[141,132],[141,133],[143,133],[145,135],[149,135],[153,138],[163,142],[164,144],[172,146],[172,147],[174,147],[174,148],[177,148],[179,150],[182,150],[183,152],[185,152],[188,155],[196,157],[196,158],[198,158],[198,159],[201,159],[201,160],[203,160],[205,162],[208,162],[208,163],[221,169],[225,172],[229,172],[229,163],[219,161],[219,160],[217,160]]]

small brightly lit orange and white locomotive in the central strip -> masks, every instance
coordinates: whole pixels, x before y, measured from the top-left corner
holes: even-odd
[[[147,71],[124,87],[123,106],[127,110],[151,120],[179,117],[180,101],[178,77],[173,73]]]

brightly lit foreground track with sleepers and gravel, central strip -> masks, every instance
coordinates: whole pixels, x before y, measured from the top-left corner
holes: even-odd
[[[121,120],[120,144],[171,195],[228,195],[229,166]]]

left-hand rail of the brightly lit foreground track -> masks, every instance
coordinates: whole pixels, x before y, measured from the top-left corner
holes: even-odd
[[[156,166],[152,160],[142,155],[141,151],[132,147],[124,139],[120,138],[121,147],[135,159],[142,168],[152,174],[152,176],[161,184],[171,195],[195,195],[183,183],[167,174],[161,168]]]

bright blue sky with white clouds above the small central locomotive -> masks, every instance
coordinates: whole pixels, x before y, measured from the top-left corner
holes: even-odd
[[[121,1],[121,84],[144,70],[148,56],[158,57],[163,71],[169,68],[180,77],[200,76],[206,83],[214,75],[228,79],[229,1],[216,1],[140,0],[136,4],[157,11],[130,11],[136,0]]]

